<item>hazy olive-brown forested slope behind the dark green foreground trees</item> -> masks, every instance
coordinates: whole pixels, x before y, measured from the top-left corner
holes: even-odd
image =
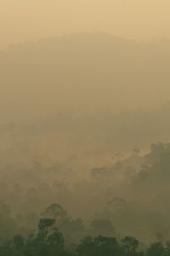
[[[76,167],[74,172],[75,156],[48,167],[38,161],[29,168],[6,166],[0,183],[1,244],[17,234],[24,239],[37,234],[39,219],[51,219],[67,246],[86,236],[117,241],[132,236],[143,247],[166,243],[169,155],[168,143],[151,144],[145,154],[134,148],[130,155],[118,154],[112,163],[90,168],[83,177],[77,177]]]

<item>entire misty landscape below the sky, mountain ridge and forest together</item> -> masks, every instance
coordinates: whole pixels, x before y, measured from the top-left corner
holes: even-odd
[[[0,256],[170,255],[170,41],[0,51]]]

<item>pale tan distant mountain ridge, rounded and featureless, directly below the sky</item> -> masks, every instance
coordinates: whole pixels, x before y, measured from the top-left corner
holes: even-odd
[[[169,67],[169,42],[105,33],[44,39],[0,52],[0,102],[13,117],[154,108],[169,100]]]

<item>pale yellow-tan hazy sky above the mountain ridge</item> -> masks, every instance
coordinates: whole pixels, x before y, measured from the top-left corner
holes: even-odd
[[[170,37],[169,0],[0,0],[0,47],[71,32]]]

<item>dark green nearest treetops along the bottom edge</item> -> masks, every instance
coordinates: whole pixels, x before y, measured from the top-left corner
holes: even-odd
[[[170,243],[156,242],[150,247],[139,248],[139,241],[125,236],[122,241],[108,236],[87,236],[78,244],[65,246],[64,236],[54,226],[53,218],[42,218],[35,235],[26,239],[14,236],[13,241],[1,245],[1,256],[167,256]]]

